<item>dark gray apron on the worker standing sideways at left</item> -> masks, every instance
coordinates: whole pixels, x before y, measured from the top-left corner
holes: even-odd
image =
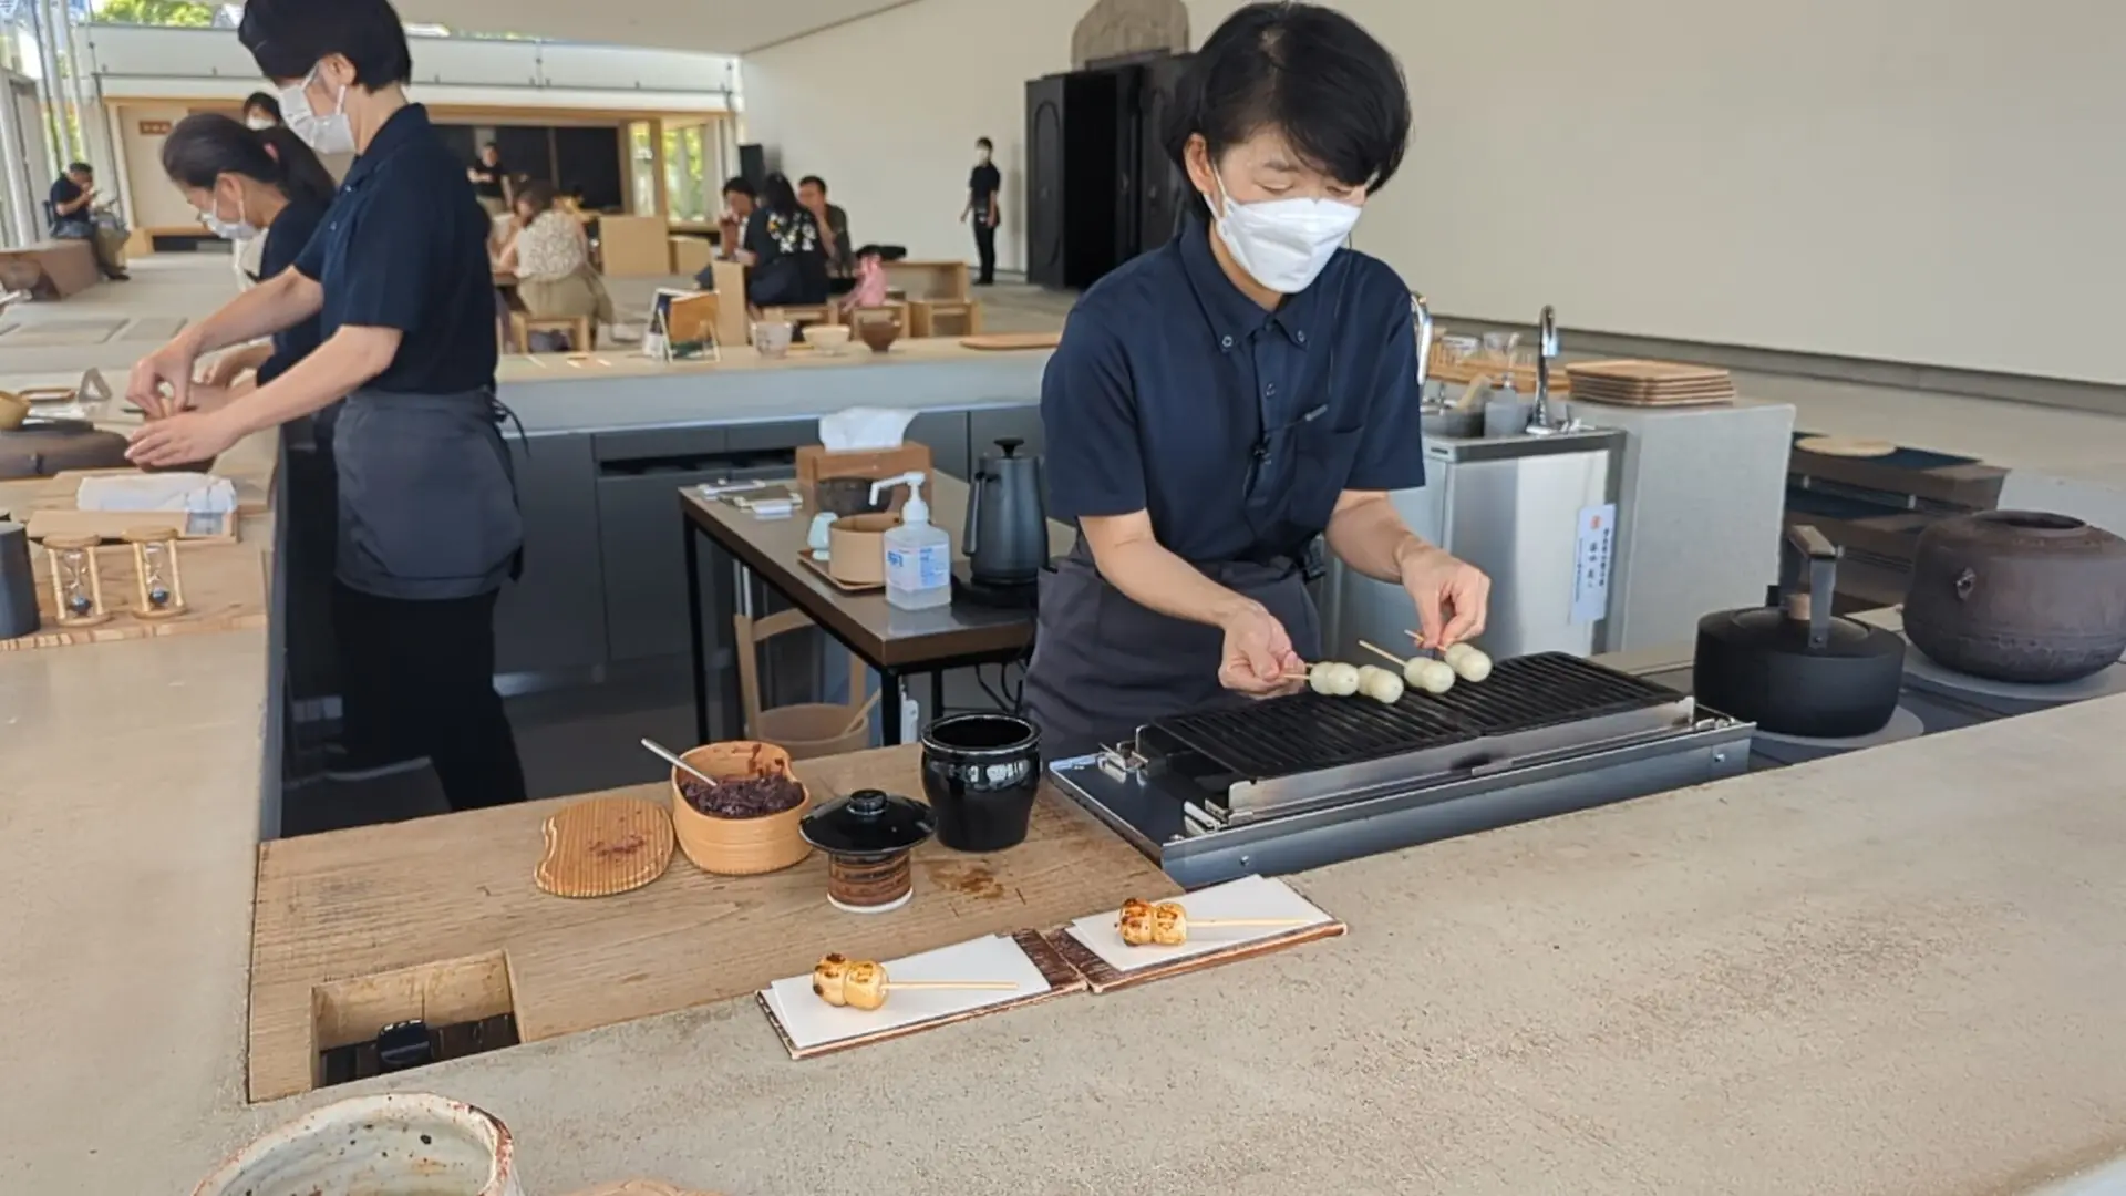
[[[472,598],[517,577],[523,515],[493,392],[347,396],[334,577],[378,598]]]

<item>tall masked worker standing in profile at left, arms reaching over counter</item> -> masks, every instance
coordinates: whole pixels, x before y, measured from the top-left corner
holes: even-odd
[[[493,687],[495,598],[523,521],[495,402],[487,215],[406,100],[412,55],[387,0],[251,0],[238,38],[298,136],[359,157],[293,268],[134,368],[128,394],[159,419],[132,458],[208,460],[344,396],[332,445],[344,698],[383,707],[359,721],[434,760],[453,809],[523,800]],[[313,315],[325,343],[308,358],[219,411],[183,411],[200,353]]]

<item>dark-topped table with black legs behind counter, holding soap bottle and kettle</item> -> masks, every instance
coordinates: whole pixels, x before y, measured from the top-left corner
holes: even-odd
[[[967,521],[967,483],[957,477],[931,470],[925,485],[931,504],[931,524],[944,528],[955,545],[955,564],[965,560],[959,545],[959,528]],[[897,611],[887,602],[882,589],[870,594],[846,594],[827,583],[819,572],[797,558],[806,551],[806,536],[812,530],[814,509],[799,509],[789,519],[755,519],[750,513],[719,498],[702,498],[695,489],[678,492],[680,524],[687,538],[687,619],[693,647],[693,721],[695,738],[710,743],[708,726],[708,632],[702,621],[702,538],[736,560],[740,609],[753,579],[787,598],[804,611],[829,636],[878,670],[880,690],[887,694],[887,715],[880,719],[882,738],[891,747],[901,741],[899,683],[908,675],[929,672],[931,709],[944,707],[944,672],[976,664],[1006,664],[1020,660],[1033,647],[1033,611],[1003,611],[955,600],[935,611]],[[1063,524],[1048,524],[1048,553],[1069,551],[1074,532]],[[731,628],[714,628],[716,647],[736,643]],[[740,711],[736,681],[725,681],[725,711]],[[723,738],[736,738],[733,728]]]

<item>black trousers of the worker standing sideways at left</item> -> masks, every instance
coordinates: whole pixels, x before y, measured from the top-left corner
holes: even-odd
[[[517,736],[495,694],[495,600],[378,598],[332,587],[347,745],[427,755],[453,811],[525,800]]]

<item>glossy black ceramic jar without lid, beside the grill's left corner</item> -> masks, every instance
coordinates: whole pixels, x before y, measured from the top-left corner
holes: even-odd
[[[1025,843],[1040,787],[1042,732],[1027,719],[952,715],[923,728],[923,796],[952,851]]]

